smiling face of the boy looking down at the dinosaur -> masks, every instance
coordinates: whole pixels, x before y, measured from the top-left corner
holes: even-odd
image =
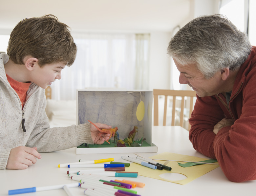
[[[63,62],[48,64],[43,67],[37,65],[32,71],[32,82],[41,88],[47,88],[56,79],[61,79],[61,70],[65,66]]]

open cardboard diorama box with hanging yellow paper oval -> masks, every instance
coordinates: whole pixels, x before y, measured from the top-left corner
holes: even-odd
[[[77,125],[102,123],[117,127],[102,145],[82,144],[76,154],[157,152],[152,143],[152,91],[77,90]]]

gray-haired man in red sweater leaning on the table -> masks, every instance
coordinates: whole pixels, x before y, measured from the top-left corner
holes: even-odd
[[[171,39],[179,82],[197,93],[189,139],[233,182],[256,179],[256,47],[222,15],[193,19]]]

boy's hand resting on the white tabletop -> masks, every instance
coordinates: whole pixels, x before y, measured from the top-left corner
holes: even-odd
[[[12,148],[7,161],[6,169],[27,169],[36,163],[36,158],[41,159],[42,156],[36,151],[37,147],[19,146]]]

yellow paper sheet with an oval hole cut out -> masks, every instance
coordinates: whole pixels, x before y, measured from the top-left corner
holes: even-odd
[[[155,156],[150,157],[151,159],[164,159],[164,160],[183,160],[183,161],[203,161],[207,160],[205,158],[199,158],[199,157],[194,157],[194,156],[188,156],[188,155],[182,155],[182,154],[176,154],[176,153],[170,153],[170,152],[164,152]],[[156,161],[160,164],[164,164],[165,161]],[[185,163],[179,161],[179,163]],[[217,164],[217,163],[216,163]],[[192,167],[181,167],[178,165],[178,162],[175,161],[170,161],[167,166],[171,167],[171,171],[167,171],[165,169],[159,170],[159,169],[151,169],[148,167],[141,166],[136,163],[131,163],[130,167],[125,167],[125,171],[137,171],[139,172],[139,175],[141,176],[146,176],[149,178],[155,178],[159,180],[165,180],[168,182],[173,182],[181,185],[185,185],[192,180],[197,179],[198,177],[208,173],[209,171],[219,167],[219,165],[210,165],[210,164],[202,164],[202,165],[196,165]],[[187,178],[184,178],[183,180],[170,180],[170,179],[165,179],[160,177],[161,176],[167,176],[167,175],[172,175],[172,173],[179,173],[185,175]],[[175,174],[173,174],[175,175]],[[178,177],[179,179],[179,177]]]

